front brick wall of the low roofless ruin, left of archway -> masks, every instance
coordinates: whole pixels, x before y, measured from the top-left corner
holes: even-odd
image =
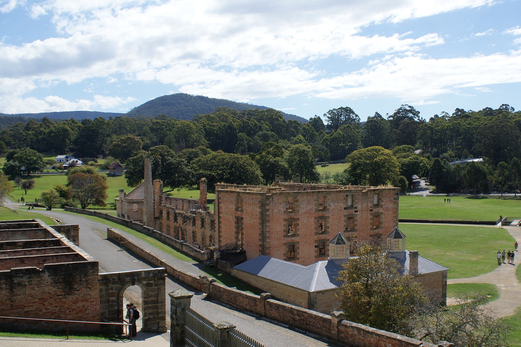
[[[98,263],[46,264],[0,271],[0,315],[10,317],[100,321]],[[88,314],[87,314],[88,313]],[[30,330],[64,329],[34,321],[6,322]],[[97,331],[97,325],[75,325],[71,331]]]

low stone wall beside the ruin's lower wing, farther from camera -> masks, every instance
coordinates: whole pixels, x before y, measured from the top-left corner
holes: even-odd
[[[81,214],[86,214],[86,215],[90,215],[90,216],[94,216],[94,217],[103,218],[104,220],[114,222],[114,223],[120,224],[122,226],[126,226],[127,228],[135,230],[138,233],[153,237],[156,240],[165,243],[165,245],[175,248],[176,250],[178,250],[200,262],[207,261],[208,259],[210,259],[211,254],[212,254],[212,252],[209,249],[206,249],[206,250],[197,249],[196,247],[193,247],[192,245],[190,245],[187,242],[180,241],[176,238],[163,234],[154,228],[145,226],[144,224],[141,224],[138,222],[132,222],[132,221],[120,218],[120,217],[116,217],[116,216],[113,216],[108,213],[102,213],[102,212],[92,211],[92,210],[82,210],[82,209],[77,209],[77,208],[73,208],[73,207],[65,207],[64,210],[69,211],[69,212],[81,213]]]

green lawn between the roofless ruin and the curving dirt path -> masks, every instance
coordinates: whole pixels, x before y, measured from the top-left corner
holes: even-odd
[[[498,266],[498,250],[514,248],[505,229],[486,226],[400,223],[406,248],[450,268],[448,278],[474,277]]]

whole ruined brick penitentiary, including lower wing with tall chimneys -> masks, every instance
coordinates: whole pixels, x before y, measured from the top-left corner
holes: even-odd
[[[200,198],[163,194],[152,182],[150,159],[144,182],[116,198],[119,217],[142,222],[194,247],[239,244],[247,259],[259,255],[301,265],[327,260],[338,233],[348,240],[385,238],[398,227],[399,188],[285,183],[271,186],[215,185],[214,212]]]

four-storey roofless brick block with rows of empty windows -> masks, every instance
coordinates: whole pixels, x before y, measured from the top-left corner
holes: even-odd
[[[263,254],[309,265],[328,258],[337,233],[367,240],[398,226],[398,188],[282,187],[293,190],[216,185],[219,245],[242,243],[247,259]]]

